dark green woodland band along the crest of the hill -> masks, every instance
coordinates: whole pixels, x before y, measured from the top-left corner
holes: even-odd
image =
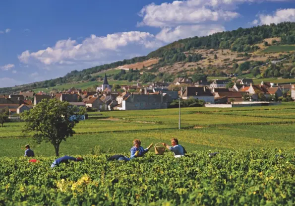
[[[159,63],[153,66],[153,69],[148,70],[151,73],[158,73],[158,69],[161,67],[165,67],[167,65],[173,65],[179,62],[198,62],[204,57],[202,54],[189,53],[190,51],[200,50],[200,49],[222,49],[222,50],[230,50],[232,52],[240,52],[240,53],[251,53],[259,50],[258,43],[261,43],[264,39],[267,38],[280,38],[280,42],[274,42],[276,45],[293,45],[295,44],[295,23],[294,22],[284,22],[280,24],[271,24],[271,25],[262,25],[256,26],[252,28],[238,28],[234,31],[226,31],[220,32],[213,35],[205,36],[205,37],[193,37],[178,40],[171,44],[168,44],[164,47],[157,49],[154,52],[151,52],[147,56],[135,57],[130,60],[118,61],[112,64],[105,64],[89,69],[83,69],[81,71],[73,70],[67,73],[63,77],[59,77],[56,79],[50,79],[25,85],[20,85],[16,87],[6,87],[0,88],[0,93],[11,93],[19,90],[30,90],[34,88],[41,87],[50,87],[55,86],[57,84],[64,84],[69,82],[77,82],[77,81],[96,81],[98,76],[93,76],[91,74],[117,68],[118,66],[123,66],[127,64],[133,64],[137,62],[142,62],[149,60],[151,58],[161,58]],[[204,69],[198,69],[197,72],[205,72]],[[146,72],[144,72],[146,73]],[[139,74],[134,75],[131,80],[138,79]],[[146,75],[145,75],[146,76]],[[146,78],[150,80],[152,77],[156,75],[151,75],[150,78]],[[283,75],[282,75],[283,76]],[[129,80],[128,79],[128,80]],[[142,80],[142,79],[138,79]],[[145,81],[147,81],[145,80]]]

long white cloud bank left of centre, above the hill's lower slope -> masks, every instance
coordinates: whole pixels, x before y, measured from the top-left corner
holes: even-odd
[[[132,48],[150,48],[154,35],[148,32],[130,31],[108,34],[107,36],[91,35],[78,44],[75,40],[59,40],[54,47],[37,52],[24,51],[18,56],[25,64],[71,65],[76,62],[112,61],[115,57],[124,59]]]

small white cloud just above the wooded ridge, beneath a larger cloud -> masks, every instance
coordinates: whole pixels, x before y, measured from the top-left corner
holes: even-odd
[[[176,28],[164,28],[156,35],[156,38],[168,43],[178,39],[207,36],[222,31],[225,31],[225,27],[221,25],[183,25]]]

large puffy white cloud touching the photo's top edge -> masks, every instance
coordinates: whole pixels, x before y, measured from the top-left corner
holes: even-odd
[[[165,2],[160,5],[151,3],[144,6],[139,12],[143,20],[138,25],[153,27],[177,26],[179,24],[231,20],[239,15],[234,11],[205,6],[206,2],[206,0],[176,0],[172,3]]]

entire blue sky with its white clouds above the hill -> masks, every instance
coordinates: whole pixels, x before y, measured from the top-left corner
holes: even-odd
[[[0,87],[147,55],[178,39],[295,21],[295,0],[2,0]]]

